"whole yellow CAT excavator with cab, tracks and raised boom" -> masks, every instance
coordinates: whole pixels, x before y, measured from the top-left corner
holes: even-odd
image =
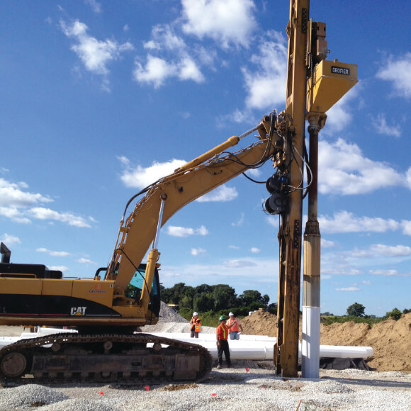
[[[290,116],[274,111],[252,130],[227,141],[154,182],[128,201],[108,267],[92,279],[64,278],[40,264],[10,262],[1,244],[0,325],[75,327],[78,333],[21,339],[0,349],[0,376],[41,381],[200,381],[208,375],[207,349],[135,333],[159,318],[159,231],[184,205],[267,160],[281,161],[269,179],[269,213],[287,210],[293,160]],[[257,140],[226,152],[257,132]],[[288,159],[288,160],[286,160]],[[140,201],[136,198],[142,196]],[[137,201],[128,215],[128,207]],[[147,264],[142,263],[152,247]]]

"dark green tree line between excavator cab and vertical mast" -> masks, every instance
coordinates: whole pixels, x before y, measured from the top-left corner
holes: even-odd
[[[175,304],[180,311],[193,310],[198,313],[222,313],[232,311],[235,315],[248,315],[249,311],[266,309],[270,297],[261,295],[256,290],[246,290],[240,295],[235,293],[235,288],[227,284],[191,287],[185,283],[177,283],[170,288],[160,286],[162,301],[166,304]]]

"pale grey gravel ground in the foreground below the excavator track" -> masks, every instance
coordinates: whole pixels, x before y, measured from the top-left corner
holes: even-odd
[[[279,378],[272,369],[237,361],[198,384],[9,385],[0,410],[411,410],[411,375],[320,370],[320,378]],[[261,365],[261,364],[260,364]]]

